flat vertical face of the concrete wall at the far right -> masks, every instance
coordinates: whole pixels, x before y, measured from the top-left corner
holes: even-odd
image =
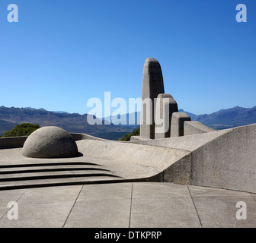
[[[192,153],[191,184],[256,193],[256,125],[232,128]]]

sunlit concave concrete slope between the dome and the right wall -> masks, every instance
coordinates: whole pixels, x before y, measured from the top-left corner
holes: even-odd
[[[190,152],[168,147],[95,140],[77,142],[79,152],[101,160],[101,165],[125,179],[163,181],[163,171]],[[101,151],[101,153],[99,153]]]

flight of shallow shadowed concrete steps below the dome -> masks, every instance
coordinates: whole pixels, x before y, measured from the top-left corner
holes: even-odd
[[[0,165],[0,190],[82,185],[120,178],[103,166],[85,162],[37,162]]]

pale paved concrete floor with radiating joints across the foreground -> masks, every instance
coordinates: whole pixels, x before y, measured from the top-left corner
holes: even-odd
[[[255,194],[172,183],[133,182],[0,191],[0,227],[256,227]],[[18,219],[8,219],[8,201]],[[244,201],[247,219],[236,219]]]

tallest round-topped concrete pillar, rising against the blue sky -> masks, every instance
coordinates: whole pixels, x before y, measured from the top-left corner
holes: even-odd
[[[162,69],[155,58],[147,58],[143,68],[140,136],[155,138],[155,98],[165,93]],[[151,107],[149,107],[151,106]],[[149,109],[150,108],[150,109]]]

